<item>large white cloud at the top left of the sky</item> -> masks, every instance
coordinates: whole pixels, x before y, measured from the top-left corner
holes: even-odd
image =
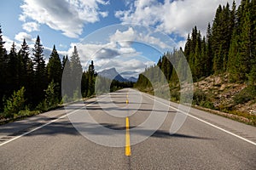
[[[50,28],[62,31],[67,37],[79,37],[84,24],[95,23],[100,17],[107,17],[108,12],[101,11],[99,4],[107,5],[102,0],[24,0],[20,20],[34,20]],[[27,23],[26,23],[27,24]],[[26,27],[25,27],[26,29]]]

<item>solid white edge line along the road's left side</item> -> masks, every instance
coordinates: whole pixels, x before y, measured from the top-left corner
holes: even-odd
[[[105,97],[105,98],[107,98],[107,97]],[[102,98],[102,99],[105,99],[105,98]],[[0,146],[3,146],[4,144],[8,144],[9,142],[14,141],[15,139],[19,139],[19,138],[21,138],[21,137],[23,137],[23,136],[25,136],[25,135],[27,135],[27,134],[29,134],[29,133],[32,133],[32,132],[34,132],[34,131],[36,131],[36,130],[42,128],[42,127],[46,127],[47,125],[49,125],[49,124],[51,124],[51,123],[53,123],[53,122],[57,122],[57,121],[59,121],[60,119],[62,119],[62,118],[64,118],[64,117],[67,117],[67,116],[70,116],[70,115],[72,115],[73,113],[75,113],[75,112],[77,112],[77,111],[81,111],[81,110],[84,109],[86,106],[94,105],[94,104],[96,104],[97,101],[100,101],[100,100],[102,100],[102,99],[97,99],[95,102],[93,102],[93,103],[91,103],[91,104],[89,104],[89,105],[84,105],[83,107],[81,107],[81,108],[78,109],[78,110],[71,111],[70,113],[65,114],[65,115],[63,115],[63,116],[60,116],[60,117],[58,117],[58,118],[56,118],[55,120],[52,120],[52,121],[50,121],[50,122],[47,122],[47,123],[45,123],[44,125],[42,125],[42,126],[40,126],[40,127],[35,127],[35,128],[33,128],[32,130],[30,130],[30,131],[28,131],[28,132],[26,132],[26,133],[20,134],[19,136],[16,136],[16,137],[13,138],[13,139],[9,139],[9,140],[3,142],[2,144],[0,144]]]

